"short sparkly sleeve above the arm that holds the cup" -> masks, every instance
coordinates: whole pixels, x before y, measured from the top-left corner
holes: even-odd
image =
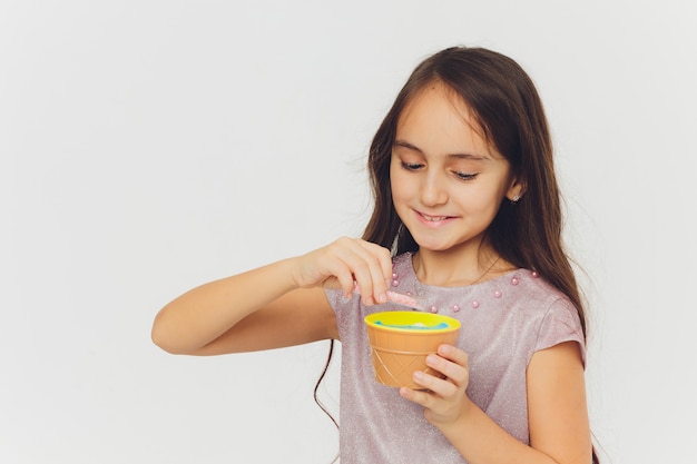
[[[534,351],[550,348],[563,342],[577,342],[581,362],[586,366],[586,337],[576,307],[566,298],[557,299],[549,308],[538,330]]]

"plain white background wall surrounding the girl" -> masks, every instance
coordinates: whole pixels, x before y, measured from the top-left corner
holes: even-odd
[[[328,463],[327,343],[189,358],[193,286],[360,235],[370,139],[452,45],[546,102],[606,463],[693,463],[697,14],[656,1],[0,2],[0,462]],[[335,413],[337,363],[321,396]]]

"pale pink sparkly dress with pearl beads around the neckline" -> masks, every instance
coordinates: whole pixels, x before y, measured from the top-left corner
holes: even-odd
[[[395,258],[392,289],[412,293],[429,308],[462,323],[458,346],[469,354],[468,395],[493,421],[529,443],[526,368],[537,351],[577,342],[586,356],[576,308],[557,289],[526,269],[467,287],[421,284],[412,255]],[[404,310],[390,303],[365,307],[360,298],[327,290],[342,342],[340,455],[342,464],[462,464],[423,408],[375,382],[363,318]]]

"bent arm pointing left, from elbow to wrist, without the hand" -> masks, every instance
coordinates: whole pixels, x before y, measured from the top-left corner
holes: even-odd
[[[292,260],[196,287],[165,306],[153,340],[174,354],[218,355],[336,338],[322,288],[291,282]]]

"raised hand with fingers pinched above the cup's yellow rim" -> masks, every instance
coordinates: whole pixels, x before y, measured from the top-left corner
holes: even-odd
[[[295,284],[302,288],[341,288],[351,297],[356,286],[366,306],[387,300],[392,278],[390,250],[360,238],[342,237],[297,259]]]

